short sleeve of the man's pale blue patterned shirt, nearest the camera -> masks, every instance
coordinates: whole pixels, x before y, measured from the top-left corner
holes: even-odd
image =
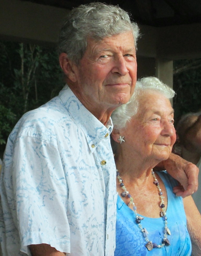
[[[21,250],[50,244],[70,252],[68,184],[58,148],[20,136],[14,146],[13,186]]]

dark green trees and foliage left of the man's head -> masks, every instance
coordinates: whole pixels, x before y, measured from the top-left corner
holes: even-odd
[[[27,111],[58,94],[64,86],[56,49],[0,42],[0,145]]]

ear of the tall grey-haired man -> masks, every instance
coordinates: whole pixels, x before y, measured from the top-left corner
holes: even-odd
[[[72,63],[71,60],[68,59],[68,55],[64,52],[62,52],[59,56],[59,63],[64,71],[64,74],[72,81],[77,81],[77,76],[75,72],[75,65]]]

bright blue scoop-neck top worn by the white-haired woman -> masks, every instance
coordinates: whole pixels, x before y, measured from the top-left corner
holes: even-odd
[[[153,248],[148,251],[143,233],[135,223],[135,213],[118,196],[117,198],[117,222],[116,222],[116,249],[115,256],[190,256],[191,240],[187,230],[186,215],[183,207],[183,199],[173,194],[173,187],[177,185],[167,172],[157,172],[161,177],[167,191],[167,226],[171,232],[168,240],[171,245],[163,248]],[[139,191],[140,193],[140,191]],[[137,195],[136,195],[137,196]],[[146,198],[145,198],[146,200]],[[135,197],[133,197],[135,202]],[[155,202],[149,202],[154,204]],[[137,206],[137,205],[136,205]],[[140,215],[140,212],[138,212]],[[141,216],[141,215],[140,215]],[[149,241],[161,244],[164,238],[163,218],[148,218],[142,216],[141,225],[149,234]]]

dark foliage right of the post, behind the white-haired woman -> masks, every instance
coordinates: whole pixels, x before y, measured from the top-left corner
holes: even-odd
[[[174,61],[173,89],[176,122],[183,114],[201,110],[201,59]]]

